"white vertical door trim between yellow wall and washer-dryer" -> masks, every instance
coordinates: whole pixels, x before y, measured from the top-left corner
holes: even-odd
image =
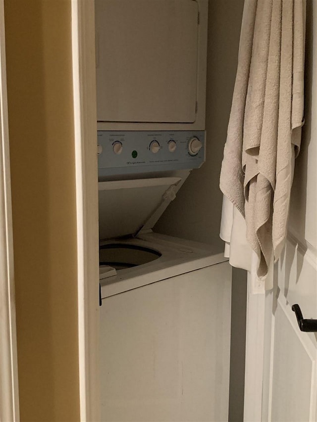
[[[80,420],[100,421],[99,234],[94,1],[72,0]]]

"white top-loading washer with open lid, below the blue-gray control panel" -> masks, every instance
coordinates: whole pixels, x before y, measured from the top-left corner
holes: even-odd
[[[231,270],[152,227],[188,176],[99,183],[102,421],[225,421]]]

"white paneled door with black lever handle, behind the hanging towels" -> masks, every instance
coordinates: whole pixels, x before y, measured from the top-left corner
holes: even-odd
[[[262,421],[317,420],[317,333],[300,331],[291,309],[297,303],[304,318],[317,319],[317,3],[308,6],[306,124],[295,168],[289,236],[275,267],[274,291],[265,297]]]

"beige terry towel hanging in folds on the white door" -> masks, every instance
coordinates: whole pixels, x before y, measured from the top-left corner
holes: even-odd
[[[303,121],[305,10],[305,0],[246,0],[244,5],[220,189],[245,218],[255,255],[249,265],[244,257],[236,266],[251,268],[254,280],[271,274],[272,256],[279,258],[287,234]],[[229,209],[225,201],[224,208]],[[231,229],[223,220],[226,239],[232,239],[230,230],[236,232],[233,219]]]

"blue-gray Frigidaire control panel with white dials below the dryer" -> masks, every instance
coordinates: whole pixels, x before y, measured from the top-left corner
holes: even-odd
[[[205,131],[98,131],[99,176],[199,168]]]

